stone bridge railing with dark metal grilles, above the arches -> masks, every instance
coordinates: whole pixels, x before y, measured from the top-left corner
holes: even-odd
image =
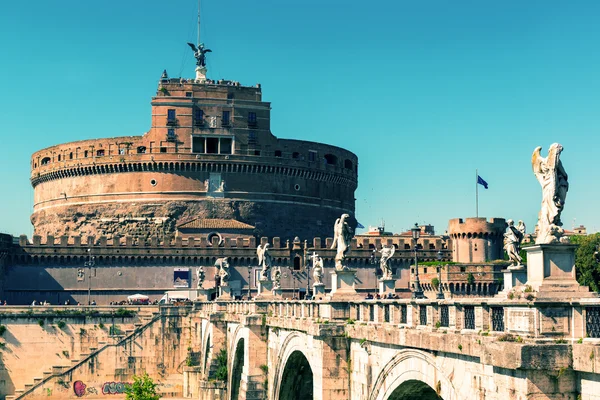
[[[214,303],[202,303],[206,311]],[[600,299],[513,301],[502,299],[373,299],[353,301],[229,301],[228,314],[266,314],[312,323],[389,324],[398,328],[540,339],[600,338]],[[308,322],[308,321],[307,321]]]

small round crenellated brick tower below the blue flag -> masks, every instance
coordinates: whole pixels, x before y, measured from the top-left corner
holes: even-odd
[[[455,218],[449,222],[452,261],[484,263],[503,258],[504,218]]]

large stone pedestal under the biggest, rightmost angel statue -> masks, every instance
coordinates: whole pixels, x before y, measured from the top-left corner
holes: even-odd
[[[575,278],[573,244],[538,244],[525,247],[527,252],[527,285],[538,292],[537,299],[594,297]]]

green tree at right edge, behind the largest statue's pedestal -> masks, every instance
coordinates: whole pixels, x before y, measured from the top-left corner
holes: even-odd
[[[577,281],[589,286],[594,292],[600,291],[600,264],[594,253],[600,245],[600,233],[587,236],[571,236],[571,243],[579,245],[575,252]]]

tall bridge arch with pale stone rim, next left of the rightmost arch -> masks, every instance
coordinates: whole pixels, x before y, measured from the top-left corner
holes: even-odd
[[[319,382],[319,374],[315,374],[315,367],[314,365],[311,364],[311,357],[309,354],[306,353],[307,349],[312,348],[312,346],[309,346],[307,343],[307,337],[304,334],[301,334],[299,332],[291,332],[283,341],[283,343],[281,344],[281,350],[279,352],[280,356],[279,356],[279,362],[277,363],[277,366],[275,368],[275,374],[274,374],[274,378],[273,378],[273,399],[284,399],[284,397],[282,397],[284,395],[284,393],[282,393],[281,390],[281,386],[283,385],[288,385],[288,384],[292,384],[294,382],[290,382],[288,377],[289,377],[289,368],[291,367],[292,364],[296,365],[296,366],[300,366],[303,368],[303,378],[302,380],[309,380],[310,381],[310,386],[312,386],[309,390],[308,387],[303,387],[301,388],[301,390],[303,391],[309,391],[311,396],[310,397],[305,397],[307,399],[312,399],[312,395],[314,395],[315,393],[315,387],[320,387],[320,382]],[[290,363],[291,361],[291,363]],[[289,363],[289,365],[288,365]],[[287,371],[287,373],[286,373]],[[310,371],[310,377],[308,376],[308,371]],[[288,381],[288,383],[286,383],[286,380]],[[304,393],[306,394],[306,393]],[[317,396],[318,398],[319,396]],[[298,397],[303,398],[303,397]],[[288,398],[285,398],[288,399]],[[294,399],[292,398],[289,398]]]

